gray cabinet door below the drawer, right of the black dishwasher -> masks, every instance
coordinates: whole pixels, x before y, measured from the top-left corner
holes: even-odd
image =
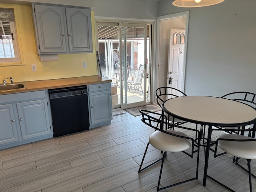
[[[89,93],[90,123],[98,124],[112,119],[110,91]]]

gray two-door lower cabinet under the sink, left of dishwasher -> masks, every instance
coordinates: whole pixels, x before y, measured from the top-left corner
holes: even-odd
[[[52,138],[46,91],[0,95],[0,149]]]

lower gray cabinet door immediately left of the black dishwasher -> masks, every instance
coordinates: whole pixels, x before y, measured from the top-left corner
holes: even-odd
[[[17,103],[22,139],[51,134],[46,99]]]

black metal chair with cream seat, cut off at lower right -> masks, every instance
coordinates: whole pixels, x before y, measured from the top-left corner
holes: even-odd
[[[213,129],[213,130],[219,130],[219,129]],[[232,130],[230,129],[230,131],[236,131],[236,129],[232,129]],[[254,125],[254,128],[250,130],[249,129],[243,130],[243,132],[250,132],[250,131],[254,131],[254,132],[256,131],[255,125]],[[217,154],[218,147],[221,148],[224,151],[224,153]],[[247,160],[248,170],[245,169],[240,164],[238,164],[238,159],[236,159],[236,164],[240,166],[240,168],[248,172],[250,192],[252,192],[252,176],[254,178],[256,178],[256,176],[251,172],[251,159],[256,159],[256,139],[249,136],[245,136],[245,135],[239,135],[239,134],[222,134],[216,140],[214,157],[217,157],[226,153],[239,158],[244,158]],[[212,178],[211,176],[208,176],[208,177],[214,180],[215,182],[217,182],[218,184],[224,186],[228,190],[234,192],[234,190],[224,185],[220,181]]]

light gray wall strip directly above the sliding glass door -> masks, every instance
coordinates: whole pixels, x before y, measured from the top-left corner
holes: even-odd
[[[156,0],[95,0],[95,16],[156,19]]]

